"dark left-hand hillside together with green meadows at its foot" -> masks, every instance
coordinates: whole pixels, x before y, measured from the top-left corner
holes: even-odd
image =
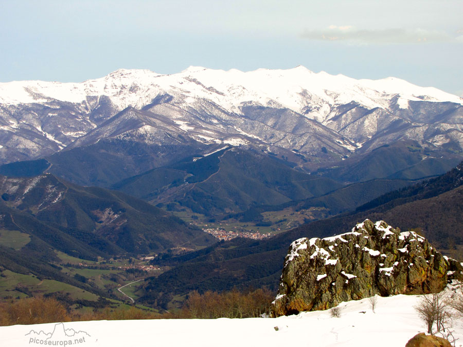
[[[103,307],[100,297],[120,299],[133,273],[148,275],[132,262],[138,254],[217,243],[143,200],[51,174],[0,176],[0,196],[0,299],[49,294]]]

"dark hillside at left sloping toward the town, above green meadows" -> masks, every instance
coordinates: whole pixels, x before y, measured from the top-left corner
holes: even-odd
[[[50,174],[2,177],[0,189],[4,205],[27,212],[25,215],[39,225],[47,223],[69,235],[80,233],[88,240],[104,240],[113,245],[112,251],[106,249],[110,253],[148,253],[215,242],[143,200],[103,188],[76,186]]]

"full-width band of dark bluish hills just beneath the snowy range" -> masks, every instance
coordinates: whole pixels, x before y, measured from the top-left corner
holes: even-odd
[[[34,175],[45,170],[77,184],[111,187],[156,205],[174,203],[176,209],[221,219],[248,209],[287,206],[323,207],[324,215],[334,215],[442,174],[461,160],[458,154],[441,158],[439,150],[402,141],[307,174],[264,149],[182,141],[159,146],[103,139],[46,160],[10,163],[0,172]]]

